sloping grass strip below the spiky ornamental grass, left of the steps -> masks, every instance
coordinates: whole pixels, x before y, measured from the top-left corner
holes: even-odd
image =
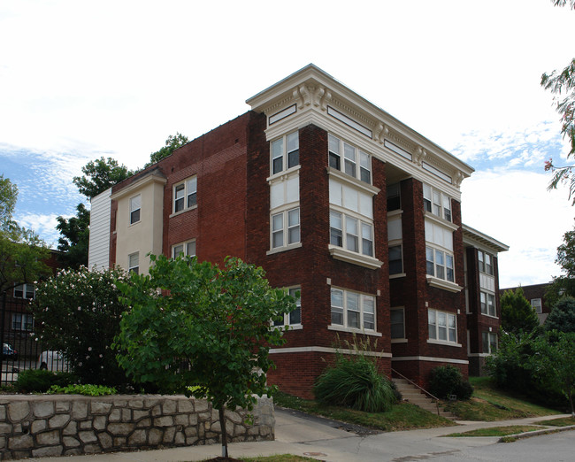
[[[449,419],[409,403],[395,404],[388,412],[361,412],[341,406],[319,404],[313,400],[292,397],[281,392],[275,394],[273,400],[275,404],[289,409],[386,432],[454,425]]]

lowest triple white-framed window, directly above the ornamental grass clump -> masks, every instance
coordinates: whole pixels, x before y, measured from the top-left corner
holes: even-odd
[[[331,290],[332,326],[375,330],[375,297],[344,289]]]

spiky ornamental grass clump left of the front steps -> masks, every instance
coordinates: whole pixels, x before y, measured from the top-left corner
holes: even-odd
[[[363,347],[363,348],[361,348]],[[315,385],[314,394],[322,404],[350,407],[364,412],[387,412],[397,402],[394,385],[379,372],[377,358],[354,345],[352,355],[338,351]]]

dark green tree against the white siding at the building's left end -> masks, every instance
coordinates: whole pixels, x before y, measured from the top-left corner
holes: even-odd
[[[58,217],[56,227],[61,235],[58,239],[58,250],[62,252],[59,259],[64,266],[73,269],[88,265],[90,212],[81,203],[76,206],[76,211],[75,217]]]

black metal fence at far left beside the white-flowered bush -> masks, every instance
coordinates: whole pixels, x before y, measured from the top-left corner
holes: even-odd
[[[27,369],[67,370],[64,359],[36,339],[29,303],[26,299],[0,296],[0,385],[17,381],[18,374]]]

